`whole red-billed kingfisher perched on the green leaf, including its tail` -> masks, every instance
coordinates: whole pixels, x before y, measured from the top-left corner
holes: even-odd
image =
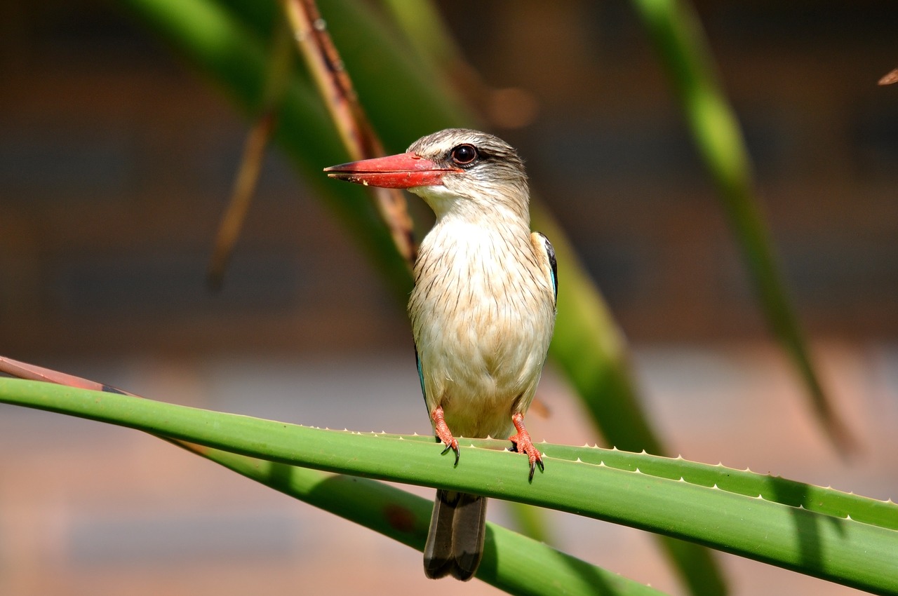
[[[409,319],[436,441],[459,462],[458,434],[509,436],[540,451],[524,427],[555,326],[555,250],[530,230],[524,162],[496,136],[449,128],[406,153],[326,168],[338,180],[406,188],[436,214],[415,262]],[[487,500],[437,489],[424,549],[427,577],[468,580],[483,556]]]

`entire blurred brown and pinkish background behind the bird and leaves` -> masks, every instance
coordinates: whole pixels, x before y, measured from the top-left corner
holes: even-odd
[[[898,85],[876,81],[898,66],[898,5],[696,4],[823,381],[863,444],[851,460],[771,342],[630,5],[437,3],[675,451],[895,499]],[[429,432],[404,311],[277,151],[207,291],[247,134],[216,89],[114,4],[10,0],[0,23],[0,355],[180,404]],[[551,369],[540,396],[534,438],[597,441]],[[560,548],[682,593],[646,534],[550,522]],[[855,593],[720,560],[734,594]],[[2,594],[434,589],[497,593],[428,583],[416,551],[147,435],[0,406]]]

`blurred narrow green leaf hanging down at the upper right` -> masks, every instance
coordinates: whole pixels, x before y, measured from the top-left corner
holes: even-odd
[[[718,197],[742,249],[764,316],[805,381],[814,414],[832,442],[854,439],[832,408],[788,298],[770,230],[753,193],[751,158],[742,130],[718,83],[700,22],[687,0],[633,0],[670,74],[693,141],[718,187]]]

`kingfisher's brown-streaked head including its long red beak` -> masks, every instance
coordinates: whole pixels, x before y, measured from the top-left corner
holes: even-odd
[[[526,209],[529,192],[524,162],[505,141],[468,128],[423,136],[406,153],[324,170],[330,178],[383,188],[407,188],[435,210],[446,197],[515,203]],[[517,210],[517,209],[515,209]]]

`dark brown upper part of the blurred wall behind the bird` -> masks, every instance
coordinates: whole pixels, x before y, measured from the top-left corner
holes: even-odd
[[[514,90],[479,104],[521,112],[524,126],[494,118],[493,129],[520,146],[630,337],[765,337],[629,7],[442,7],[483,81]],[[7,354],[407,346],[401,308],[277,153],[225,292],[208,294],[245,124],[107,4],[0,11]],[[876,80],[898,59],[898,8],[704,2],[700,13],[802,319],[817,337],[894,337],[898,86]]]

